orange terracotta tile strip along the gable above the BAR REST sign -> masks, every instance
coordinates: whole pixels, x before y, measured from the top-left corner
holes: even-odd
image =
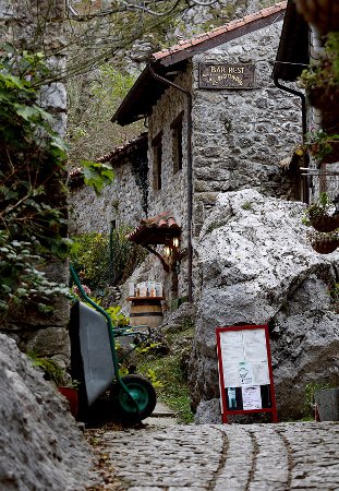
[[[178,45],[172,46],[170,48],[162,49],[161,51],[157,51],[153,53],[152,59],[154,61],[161,61],[166,58],[171,58],[173,55],[180,51],[191,51],[192,48],[198,47],[199,45],[204,45],[206,41],[218,38],[227,33],[231,33],[232,31],[237,31],[241,27],[244,27],[251,24],[254,21],[266,19],[275,13],[279,13],[286,10],[287,1],[276,3],[273,7],[268,7],[267,9],[263,9],[258,12],[255,12],[250,15],[245,15],[243,19],[235,19],[234,21],[229,22],[226,25],[220,27],[216,27],[207,33],[199,34],[198,36],[193,37],[192,39],[186,39],[180,41]]]

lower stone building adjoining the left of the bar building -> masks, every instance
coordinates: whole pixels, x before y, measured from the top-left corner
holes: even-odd
[[[98,161],[109,163],[114,180],[96,195],[84,185],[82,169],[70,173],[70,235],[109,233],[121,225],[135,227],[147,215],[147,133],[114,148]]]

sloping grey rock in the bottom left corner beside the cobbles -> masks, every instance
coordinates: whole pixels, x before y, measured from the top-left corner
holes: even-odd
[[[2,334],[0,371],[0,489],[86,489],[92,454],[66,403]]]

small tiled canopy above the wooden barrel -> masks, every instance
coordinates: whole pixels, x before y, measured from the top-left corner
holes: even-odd
[[[162,212],[153,218],[141,220],[128,239],[140,244],[166,244],[172,237],[181,235],[181,227],[177,224],[172,212]]]

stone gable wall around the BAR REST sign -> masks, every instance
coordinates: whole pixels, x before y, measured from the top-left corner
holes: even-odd
[[[300,199],[295,176],[280,160],[301,141],[301,103],[271,79],[281,22],[193,58],[194,233],[219,192],[253,188],[264,195]],[[198,63],[254,63],[254,89],[198,88]]]

